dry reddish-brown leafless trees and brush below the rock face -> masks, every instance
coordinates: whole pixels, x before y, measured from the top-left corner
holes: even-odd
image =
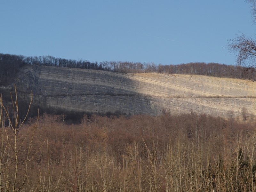
[[[22,124],[0,106],[0,191],[256,189],[254,122],[163,111],[71,125],[45,113]]]

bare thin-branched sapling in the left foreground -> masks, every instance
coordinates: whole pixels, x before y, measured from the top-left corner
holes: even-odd
[[[25,182],[28,181],[28,164],[30,160],[36,155],[31,154],[32,142],[36,130],[36,124],[32,130],[21,133],[21,129],[25,120],[27,119],[28,112],[32,103],[31,99],[28,106],[28,111],[23,120],[19,118],[18,96],[15,88],[15,99],[13,100],[12,93],[12,116],[3,104],[2,97],[0,98],[0,123],[1,123],[1,161],[0,161],[0,191],[20,191]],[[38,116],[37,116],[38,120]],[[5,122],[9,126],[5,126]],[[28,135],[31,136],[28,139]],[[19,179],[18,179],[19,177]]]

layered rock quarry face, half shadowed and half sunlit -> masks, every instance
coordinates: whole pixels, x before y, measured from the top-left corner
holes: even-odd
[[[35,105],[56,112],[256,114],[256,84],[241,79],[26,66],[14,83],[22,98],[32,90]]]

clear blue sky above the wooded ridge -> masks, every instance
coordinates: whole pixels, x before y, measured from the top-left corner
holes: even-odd
[[[235,65],[254,36],[244,0],[0,0],[0,53],[93,61]]]

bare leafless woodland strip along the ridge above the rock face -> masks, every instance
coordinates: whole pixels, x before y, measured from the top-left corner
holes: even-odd
[[[68,60],[52,56],[25,57],[0,53],[0,84],[6,84],[24,65],[41,65],[54,67],[82,68],[107,70],[120,73],[173,73],[190,75],[207,75],[216,77],[231,77],[242,79],[256,79],[253,69],[241,66],[224,65],[219,63],[193,62],[179,65],[161,65],[154,63],[103,61],[90,62],[87,60]]]

